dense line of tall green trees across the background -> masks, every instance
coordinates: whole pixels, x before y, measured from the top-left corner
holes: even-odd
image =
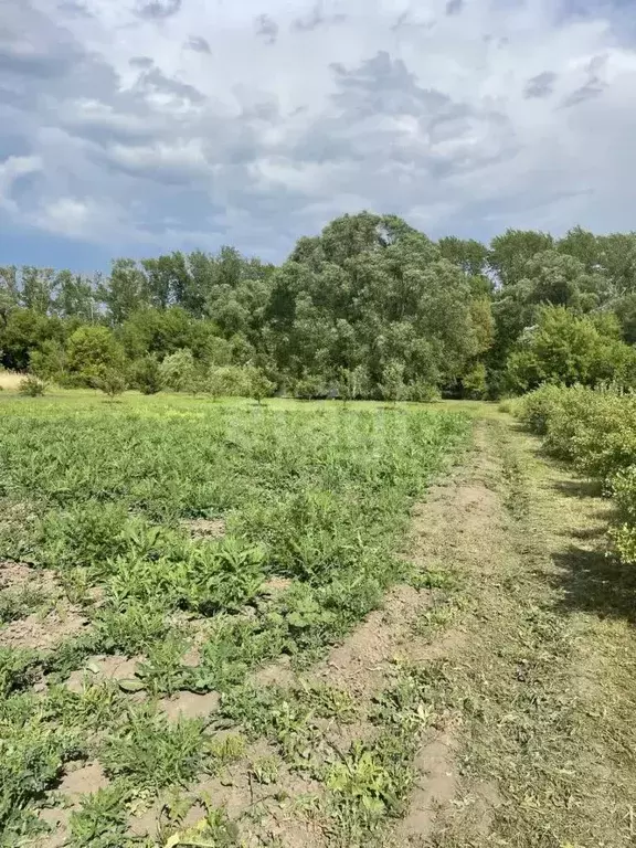
[[[0,363],[62,385],[265,396],[497,398],[636,383],[636,233],[437,242],[344,215],[280,265],[232,247],[108,275],[0,267]]]

